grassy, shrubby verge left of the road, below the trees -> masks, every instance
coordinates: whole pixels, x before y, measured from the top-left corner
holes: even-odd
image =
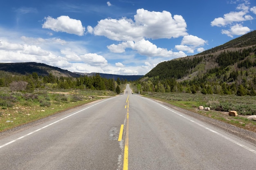
[[[21,93],[1,88],[0,132],[113,95],[112,91],[41,89]]]

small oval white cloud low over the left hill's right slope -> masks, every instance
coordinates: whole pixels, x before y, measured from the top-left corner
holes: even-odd
[[[86,64],[90,66],[105,67],[108,65],[108,61],[101,55],[95,53],[88,53],[79,56]]]

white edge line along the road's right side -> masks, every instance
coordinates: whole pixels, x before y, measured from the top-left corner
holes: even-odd
[[[152,101],[152,100],[151,100],[151,101]],[[223,138],[225,138],[225,139],[227,139],[227,140],[233,142],[234,144],[237,144],[237,145],[239,145],[239,146],[241,146],[241,147],[243,147],[243,148],[245,148],[245,149],[247,149],[247,150],[249,150],[249,151],[251,151],[251,152],[253,152],[253,153],[256,154],[256,150],[253,150],[253,149],[251,149],[251,148],[249,148],[249,147],[247,147],[247,146],[245,146],[245,145],[243,145],[243,144],[240,144],[239,142],[237,142],[237,141],[235,141],[235,140],[233,140],[233,139],[230,139],[229,137],[226,137],[225,135],[222,135],[222,134],[220,134],[219,132],[216,132],[215,130],[212,130],[211,128],[207,128],[206,126],[204,126],[204,125],[202,125],[202,124],[200,124],[200,123],[198,123],[198,122],[195,122],[195,121],[189,119],[188,117],[185,117],[185,116],[183,116],[183,115],[180,115],[179,113],[177,113],[177,112],[175,112],[175,111],[173,111],[173,110],[171,110],[171,109],[169,109],[169,108],[167,108],[167,107],[165,107],[165,106],[163,106],[163,105],[161,105],[161,104],[159,104],[159,103],[157,103],[157,102],[154,102],[154,101],[152,101],[152,102],[155,103],[155,104],[158,104],[159,106],[162,106],[163,108],[165,108],[165,109],[167,109],[167,110],[169,110],[169,111],[171,111],[171,112],[173,112],[173,113],[175,113],[175,114],[177,114],[177,115],[179,115],[179,116],[181,116],[181,117],[183,117],[183,118],[185,118],[185,119],[188,119],[189,121],[191,121],[191,122],[193,122],[193,123],[195,123],[195,124],[201,126],[202,128],[205,128],[205,129],[207,129],[207,130],[209,130],[209,131],[211,131],[211,132],[213,132],[213,133],[215,133],[215,134],[217,134],[217,135],[219,135],[219,136],[221,136],[221,137],[223,137]]]

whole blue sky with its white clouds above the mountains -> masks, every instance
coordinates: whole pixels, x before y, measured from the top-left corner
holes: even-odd
[[[0,62],[145,75],[256,29],[255,0],[8,0]]]

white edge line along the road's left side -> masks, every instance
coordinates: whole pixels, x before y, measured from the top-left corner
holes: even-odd
[[[113,98],[115,98],[115,97],[111,97],[111,98],[106,99],[106,100],[104,100],[104,101],[102,101],[102,102],[106,102],[106,101],[108,101],[108,100],[110,100],[110,99],[113,99]],[[95,105],[97,105],[97,104],[100,104],[100,103],[102,103],[102,102],[93,104],[92,106],[89,106],[89,107],[87,107],[87,108],[84,108],[84,109],[82,109],[82,110],[79,110],[79,111],[77,111],[76,113],[79,113],[79,112],[81,112],[81,111],[83,111],[83,110],[86,110],[86,109],[88,109],[88,108],[91,108],[91,107],[93,107],[93,106],[95,106]],[[21,137],[19,137],[19,138],[17,138],[17,139],[14,139],[14,140],[12,140],[12,141],[9,141],[8,143],[1,145],[0,148],[2,148],[2,147],[4,147],[4,146],[7,146],[7,145],[9,145],[9,144],[11,144],[11,143],[13,143],[13,142],[16,142],[16,141],[18,141],[18,140],[20,140],[20,139],[22,139],[22,138],[24,138],[24,137],[27,137],[27,136],[29,136],[29,135],[35,133],[35,132],[38,132],[39,130],[42,130],[42,129],[44,129],[44,128],[47,128],[48,126],[51,126],[51,125],[53,125],[53,124],[56,124],[57,122],[62,121],[62,120],[66,119],[66,118],[68,118],[68,117],[70,117],[70,116],[73,116],[73,115],[75,115],[76,113],[73,113],[73,114],[71,114],[71,115],[68,115],[67,117],[64,117],[64,118],[62,118],[62,119],[59,119],[59,120],[57,120],[57,121],[54,121],[53,123],[48,124],[48,125],[46,125],[46,126],[44,126],[44,127],[42,127],[42,128],[39,128],[39,129],[37,129],[37,130],[34,130],[33,132],[30,132],[30,133],[28,133],[28,134],[26,134],[26,135],[24,135],[24,136],[21,136]]]

